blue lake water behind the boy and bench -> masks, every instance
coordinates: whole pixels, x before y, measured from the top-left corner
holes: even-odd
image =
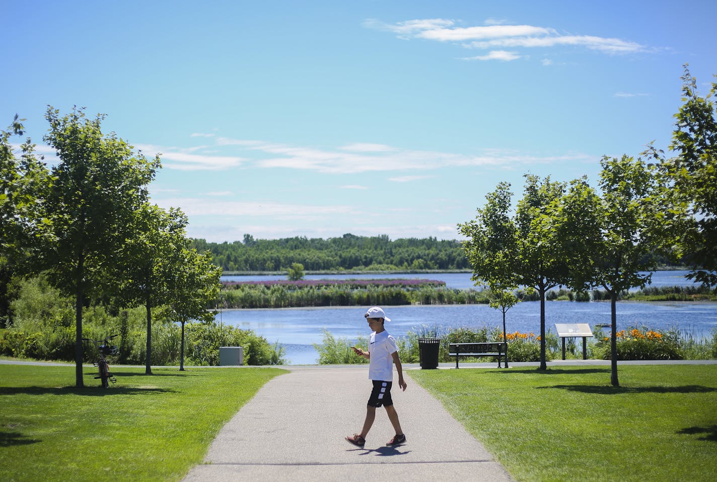
[[[687,271],[657,271],[652,276],[652,286],[675,286],[691,284],[684,278]],[[446,281],[449,288],[473,287],[470,273],[439,274],[390,274],[390,275],[310,275],[306,279],[376,279],[376,278],[424,278]],[[285,276],[222,276],[222,281],[256,281],[262,279],[285,279]],[[493,327],[502,324],[499,310],[486,305],[433,305],[384,307],[391,322],[386,324],[397,337],[407,332],[421,332],[448,327]],[[323,339],[323,330],[334,337],[356,339],[369,334],[366,307],[320,307],[287,309],[229,309],[217,314],[217,321],[242,329],[252,329],[270,343],[279,342],[285,347],[286,357],[295,365],[313,364],[318,354],[313,347]],[[610,322],[609,302],[546,302],[546,329],[555,330],[556,323]],[[617,304],[617,327],[649,327],[669,329],[676,327],[695,337],[707,336],[717,329],[717,303],[711,302],[619,302]],[[508,332],[540,332],[540,303],[522,302],[508,310]]]

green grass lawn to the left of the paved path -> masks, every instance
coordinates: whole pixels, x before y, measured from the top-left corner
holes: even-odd
[[[179,481],[274,368],[0,365],[0,481]]]

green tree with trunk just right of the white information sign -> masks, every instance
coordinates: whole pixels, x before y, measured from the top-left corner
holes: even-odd
[[[676,241],[670,226],[683,213],[670,206],[656,170],[641,158],[604,157],[599,185],[602,190],[602,240],[594,252],[595,281],[610,297],[612,324],[610,381],[617,377],[617,298],[622,291],[650,282],[655,253],[668,253]]]

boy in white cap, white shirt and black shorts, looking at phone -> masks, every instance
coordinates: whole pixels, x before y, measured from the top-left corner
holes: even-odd
[[[392,365],[396,365],[396,370],[399,372],[399,387],[404,391],[407,387],[403,378],[403,369],[401,360],[399,359],[398,347],[396,346],[394,337],[391,337],[389,332],[386,332],[384,328],[384,322],[390,322],[391,319],[386,317],[383,309],[371,307],[366,311],[366,314],[364,314],[364,318],[366,318],[366,322],[369,323],[369,328],[371,328],[372,332],[369,342],[369,351],[364,352],[361,348],[351,348],[356,352],[356,355],[360,355],[369,360],[369,378],[372,380],[374,388],[371,390],[371,397],[369,397],[369,403],[366,406],[364,428],[361,429],[361,433],[354,433],[351,437],[346,437],[346,440],[348,443],[364,448],[366,435],[368,435],[369,430],[371,430],[371,425],[374,425],[374,420],[376,419],[376,408],[383,406],[386,409],[386,414],[389,415],[391,425],[394,426],[394,430],[396,431],[394,438],[391,438],[386,445],[395,447],[396,445],[406,443],[406,435],[404,435],[403,430],[401,430],[399,415],[396,413],[393,400],[391,400],[391,385],[394,380]]]

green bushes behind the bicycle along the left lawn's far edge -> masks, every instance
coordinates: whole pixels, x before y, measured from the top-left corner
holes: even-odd
[[[216,268],[214,268],[216,271]],[[15,323],[0,335],[2,355],[39,360],[71,361],[75,351],[72,326],[72,303],[61,297],[41,276],[22,282],[19,297],[13,302]],[[181,329],[175,323],[176,312],[159,307],[152,324],[151,365],[179,365]],[[282,349],[271,346],[264,337],[252,331],[220,325],[214,313],[207,312],[209,321],[186,324],[186,357],[190,365],[218,365],[220,346],[244,347],[247,365],[278,365],[285,362]],[[119,334],[115,343],[118,355],[110,363],[146,364],[146,309],[138,307],[113,314],[102,305],[83,309],[85,323],[82,337],[103,339]],[[83,360],[95,360],[92,344],[83,344]]]

